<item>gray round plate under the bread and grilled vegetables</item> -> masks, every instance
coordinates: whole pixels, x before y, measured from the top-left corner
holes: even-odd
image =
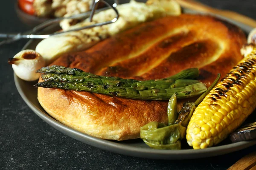
[[[194,11],[189,11],[184,9],[185,13],[195,13]],[[218,16],[220,17],[220,16]],[[222,19],[226,19],[221,17]],[[227,19],[226,19],[227,20]],[[236,24],[242,28],[245,33],[248,33],[252,28],[249,26],[243,25],[241,23],[236,23],[232,20],[229,20],[231,23]],[[48,28],[45,31],[53,31],[53,28]],[[29,41],[23,49],[35,49],[35,46],[38,44],[38,40]],[[146,144],[143,143],[140,139],[116,142],[110,140],[98,139],[87,134],[76,131],[62,123],[53,119],[49,114],[44,111],[37,99],[37,89],[33,88],[36,82],[26,82],[19,79],[16,75],[14,76],[15,84],[17,90],[19,91],[21,97],[41,119],[47,122],[49,125],[55,129],[61,131],[62,133],[77,139],[86,144],[92,145],[94,147],[99,147],[103,150],[109,150],[111,152],[120,153],[128,156],[137,156],[142,158],[150,159],[195,159],[209,156],[217,156],[225,153],[231,153],[237,150],[244,149],[256,144],[256,140],[247,141],[247,142],[238,142],[232,144],[228,139],[224,142],[221,142],[218,146],[203,149],[203,150],[193,150],[189,147],[184,147],[182,150],[154,150],[149,148]],[[187,146],[186,143],[183,146]]]

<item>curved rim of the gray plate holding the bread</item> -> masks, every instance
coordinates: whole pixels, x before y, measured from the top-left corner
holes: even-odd
[[[210,13],[207,13],[210,14]],[[215,15],[216,17],[216,15]],[[217,16],[218,17],[218,16]],[[222,19],[229,20],[225,17],[221,17]],[[229,20],[230,21],[230,20]],[[239,28],[243,29],[243,25],[241,23],[238,23],[236,21],[233,21],[232,23],[236,23],[236,26],[239,26]],[[250,26],[246,26],[243,30],[244,32],[248,33],[248,29]],[[24,45],[22,50],[28,49],[28,46],[33,43],[34,40],[29,40],[29,42]],[[15,86],[17,88],[17,91],[19,92],[20,96],[26,103],[26,105],[29,106],[29,108],[36,113],[41,119],[43,119],[45,122],[47,122],[50,126],[54,127],[56,130],[60,131],[61,133],[66,134],[67,136],[70,136],[76,140],[79,140],[80,142],[89,144],[93,147],[97,147],[103,150],[108,150],[114,153],[119,153],[122,155],[127,156],[135,156],[140,158],[148,158],[148,159],[170,159],[170,160],[184,160],[184,159],[196,159],[196,158],[202,158],[202,157],[210,157],[210,156],[218,156],[223,155],[226,153],[235,152],[238,150],[242,150],[244,148],[253,146],[256,144],[256,140],[250,140],[245,142],[237,142],[237,143],[231,143],[231,144],[225,144],[221,146],[215,146],[215,147],[209,147],[206,149],[201,150],[194,150],[194,149],[183,149],[183,150],[154,150],[151,148],[139,148],[134,146],[128,146],[127,144],[120,144],[117,142],[112,142],[110,140],[105,139],[99,139],[90,135],[87,135],[85,133],[81,133],[75,129],[72,129],[71,127],[68,127],[61,122],[58,122],[51,116],[47,115],[43,111],[41,111],[40,108],[37,108],[33,102],[29,100],[29,98],[26,96],[25,92],[23,91],[19,77],[14,74],[14,81]]]

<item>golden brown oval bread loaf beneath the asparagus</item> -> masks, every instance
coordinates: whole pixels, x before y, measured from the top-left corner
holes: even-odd
[[[159,79],[198,67],[207,86],[241,58],[243,32],[214,17],[182,14],[144,23],[52,65],[106,76]],[[91,136],[125,140],[151,121],[167,123],[167,102],[38,88],[38,100],[55,119]]]

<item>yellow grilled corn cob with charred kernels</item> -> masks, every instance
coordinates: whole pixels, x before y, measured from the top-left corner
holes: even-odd
[[[194,149],[218,144],[256,108],[256,47],[249,48],[195,109],[186,139]]]

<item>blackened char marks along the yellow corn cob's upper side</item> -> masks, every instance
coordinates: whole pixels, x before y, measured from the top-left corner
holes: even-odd
[[[254,66],[255,63],[256,59],[248,59],[246,62],[241,62],[239,65],[233,67],[233,69],[221,79],[224,88],[215,88],[215,93],[211,95],[211,99],[215,102],[217,99],[221,99],[221,97],[227,97],[226,93],[234,85],[244,86],[244,81],[242,79],[247,79],[247,74],[249,73],[255,75],[252,70],[253,68],[256,68],[256,66]],[[230,78],[230,76],[233,78]]]

